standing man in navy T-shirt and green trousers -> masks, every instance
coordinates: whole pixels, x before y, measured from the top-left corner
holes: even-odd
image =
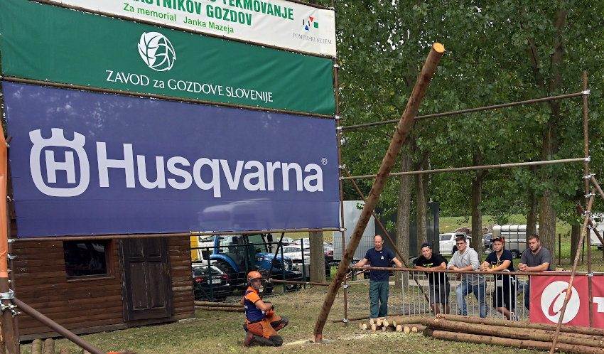
[[[367,250],[365,258],[355,264],[357,267],[362,267],[367,262],[371,263],[371,267],[388,267],[390,259],[397,264],[398,267],[403,267],[401,261],[394,257],[394,253],[387,248],[384,248],[384,240],[381,235],[373,237],[373,245],[375,248]],[[387,270],[372,270],[370,276],[369,297],[371,299],[371,315],[370,318],[388,316],[388,294],[390,286],[388,284]]]

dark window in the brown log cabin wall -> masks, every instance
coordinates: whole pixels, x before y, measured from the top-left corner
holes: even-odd
[[[109,275],[107,267],[109,240],[65,241],[63,252],[65,274],[68,279]]]

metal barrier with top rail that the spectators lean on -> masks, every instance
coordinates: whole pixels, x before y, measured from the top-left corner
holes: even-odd
[[[419,270],[406,268],[353,267],[394,272],[388,298],[388,313],[403,316],[426,316],[428,313],[451,313],[482,318],[529,321],[529,284],[532,277],[565,276],[568,272],[472,272],[443,269]],[[588,274],[577,273],[577,276]],[[594,274],[604,275],[604,274]],[[392,286],[394,277],[401,277],[402,286]],[[349,284],[354,286],[355,281]],[[349,296],[349,309],[370,313],[366,296]]]

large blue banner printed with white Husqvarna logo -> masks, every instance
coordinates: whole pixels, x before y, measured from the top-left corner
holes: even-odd
[[[339,225],[331,119],[2,88],[18,237]]]

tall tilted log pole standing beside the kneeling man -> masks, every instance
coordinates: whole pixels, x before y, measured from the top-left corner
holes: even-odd
[[[350,265],[350,261],[352,260],[352,256],[355,254],[363,232],[365,231],[365,227],[367,227],[367,223],[369,222],[371,211],[374,210],[375,205],[377,205],[379,195],[384,191],[390,171],[392,171],[392,167],[397,160],[401,146],[403,146],[403,143],[411,130],[414,117],[419,109],[419,104],[426,95],[430,81],[436,71],[436,66],[441,60],[444,51],[445,48],[441,43],[434,43],[428,54],[426,63],[424,63],[424,67],[421,68],[421,73],[417,79],[413,92],[411,92],[409,102],[407,102],[405,111],[403,112],[399,124],[397,124],[397,130],[394,132],[386,156],[384,156],[384,159],[382,160],[382,166],[379,168],[377,178],[375,178],[369,197],[367,198],[367,203],[365,203],[359,221],[350,237],[350,242],[348,242],[346,250],[344,251],[340,266],[338,267],[338,272],[335,273],[328,294],[325,296],[325,301],[323,301],[323,306],[321,307],[313,331],[313,341],[315,343],[323,342],[323,327],[325,326],[325,321],[327,321],[335,296],[338,294],[340,284],[342,284],[342,281],[345,279],[345,274]]]

